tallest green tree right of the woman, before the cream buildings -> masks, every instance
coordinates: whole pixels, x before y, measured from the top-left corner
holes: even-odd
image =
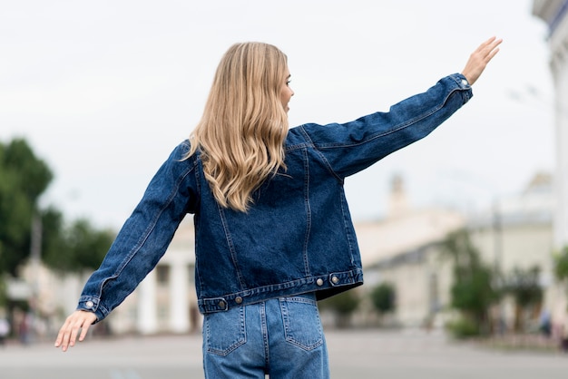
[[[489,309],[498,300],[493,287],[494,271],[485,265],[466,230],[450,233],[442,244],[443,252],[454,264],[451,306],[461,312],[463,320],[456,325],[475,326],[480,335],[490,328]],[[459,331],[455,331],[459,334]]]

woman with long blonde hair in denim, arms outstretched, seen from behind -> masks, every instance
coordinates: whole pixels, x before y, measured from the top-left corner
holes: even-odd
[[[499,44],[485,41],[462,73],[387,113],[292,129],[286,56],[269,44],[230,47],[200,123],[155,174],[55,346],[83,341],[155,267],[190,213],[205,376],[327,378],[316,301],[363,283],[343,180],[457,111]]]

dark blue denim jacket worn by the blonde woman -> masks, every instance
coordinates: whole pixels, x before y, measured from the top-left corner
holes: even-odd
[[[465,77],[455,73],[389,112],[290,129],[287,169],[253,193],[247,213],[217,204],[199,153],[182,159],[190,149],[183,141],[85,284],[78,308],[98,320],[107,316],[155,267],[187,214],[194,215],[201,313],[308,292],[322,299],[361,285],[344,179],[425,137],[471,96]]]

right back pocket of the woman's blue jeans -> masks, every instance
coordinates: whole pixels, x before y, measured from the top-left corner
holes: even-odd
[[[280,298],[286,341],[304,350],[323,345],[323,330],[316,300],[295,296]]]

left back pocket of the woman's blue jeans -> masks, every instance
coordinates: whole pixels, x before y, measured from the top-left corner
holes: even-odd
[[[207,351],[228,355],[247,342],[244,306],[208,314],[203,319],[203,338]]]

